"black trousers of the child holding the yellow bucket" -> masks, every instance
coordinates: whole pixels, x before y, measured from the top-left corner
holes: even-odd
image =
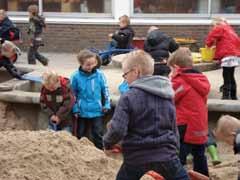
[[[234,78],[235,67],[223,67],[222,99],[237,99],[237,85]]]

